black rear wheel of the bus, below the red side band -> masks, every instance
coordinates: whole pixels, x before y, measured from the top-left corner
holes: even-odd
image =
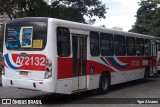
[[[106,94],[110,87],[110,75],[107,73],[102,73],[99,81],[99,88],[97,90],[98,94]]]

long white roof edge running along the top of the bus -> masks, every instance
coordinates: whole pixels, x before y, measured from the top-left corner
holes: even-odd
[[[45,22],[47,22],[48,19],[55,21],[55,24],[57,24],[59,26],[68,27],[68,28],[80,29],[80,30],[85,30],[85,31],[97,31],[97,32],[101,32],[101,33],[112,33],[112,34],[125,35],[125,36],[127,35],[127,36],[141,37],[141,38],[147,38],[147,39],[160,39],[159,37],[154,37],[154,36],[151,36],[151,35],[138,34],[138,33],[133,33],[133,32],[126,32],[126,31],[120,31],[120,30],[115,30],[115,29],[108,29],[108,28],[103,28],[103,27],[96,27],[96,26],[91,26],[91,25],[88,25],[88,24],[66,21],[66,20],[61,20],[61,19],[56,19],[56,18],[48,18],[48,17],[18,18],[18,19],[8,21],[7,24],[15,23],[15,22],[24,22],[24,21],[31,21],[31,22],[45,21]]]

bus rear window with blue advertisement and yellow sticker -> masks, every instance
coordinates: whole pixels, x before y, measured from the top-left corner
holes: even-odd
[[[47,42],[46,22],[15,22],[6,25],[5,45],[8,50],[43,50]]]

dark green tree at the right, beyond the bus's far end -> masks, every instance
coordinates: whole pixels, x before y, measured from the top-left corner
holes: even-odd
[[[141,0],[137,11],[137,20],[130,30],[131,32],[160,35],[160,1]]]

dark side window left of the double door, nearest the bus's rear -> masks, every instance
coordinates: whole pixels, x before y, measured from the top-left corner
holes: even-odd
[[[67,28],[57,28],[57,51],[58,56],[68,57],[70,55],[70,32]]]

